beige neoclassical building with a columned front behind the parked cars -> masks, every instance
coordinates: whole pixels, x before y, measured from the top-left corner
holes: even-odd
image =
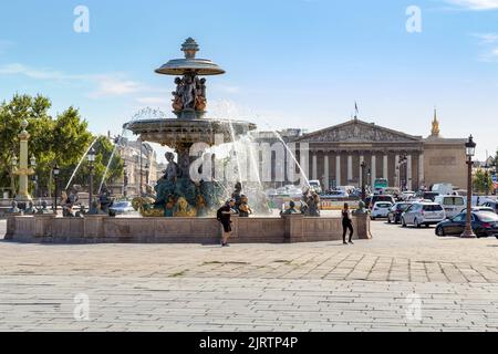
[[[325,188],[362,186],[363,178],[370,186],[376,178],[386,178],[390,186],[409,190],[436,183],[465,188],[466,139],[442,137],[436,112],[432,125],[432,134],[424,138],[353,118],[286,140],[294,143],[297,152],[308,145],[309,178],[321,180]]]

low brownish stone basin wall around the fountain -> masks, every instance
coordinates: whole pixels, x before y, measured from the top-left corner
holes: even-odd
[[[232,218],[232,243],[284,243],[342,240],[341,218],[301,215]],[[370,239],[367,215],[353,217],[354,239]],[[218,243],[215,218],[111,218],[10,216],[6,240],[40,243]]]

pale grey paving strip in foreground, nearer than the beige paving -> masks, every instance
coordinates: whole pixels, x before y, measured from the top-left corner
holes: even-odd
[[[32,299],[13,299],[20,283]],[[31,288],[32,283],[48,287],[38,292],[40,288]],[[20,280],[7,275],[0,279],[0,331],[498,330],[498,284],[376,282],[377,296],[372,296],[361,290],[362,281],[299,280],[281,282],[278,299],[261,302],[268,283],[271,280],[252,282],[252,295],[242,298],[248,285],[230,278],[24,275]],[[154,291],[165,288],[174,295]],[[330,290],[323,292],[323,288]],[[308,296],[313,289],[317,296]],[[205,290],[208,295],[201,300],[189,295]],[[404,295],[407,290],[422,299],[418,317],[413,315],[413,301]],[[433,296],[442,290],[452,300]],[[351,293],[351,301],[325,300],[338,292],[340,299]],[[81,293],[89,299],[89,321],[74,317],[80,304],[75,296]]]

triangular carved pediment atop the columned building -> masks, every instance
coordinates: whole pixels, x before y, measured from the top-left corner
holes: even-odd
[[[360,119],[351,119],[295,139],[301,143],[414,143],[421,140],[422,136],[408,135]]]

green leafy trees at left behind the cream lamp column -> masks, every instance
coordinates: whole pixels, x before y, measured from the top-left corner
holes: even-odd
[[[79,110],[69,107],[52,117],[49,113],[52,103],[37,95],[15,94],[10,102],[0,104],[0,188],[15,188],[17,178],[12,174],[12,157],[19,156],[21,122],[29,122],[28,132],[30,157],[37,158],[37,177],[40,195],[50,195],[53,189],[51,171],[56,163],[61,169],[60,187],[64,188],[73,170],[94,140],[87,122],[80,116]],[[95,144],[96,180],[104,174],[105,166],[114,146],[105,137]],[[83,166],[82,166],[83,167]],[[123,173],[123,162],[115,156],[110,167],[107,180],[118,178]],[[81,168],[73,184],[87,185],[87,167]]]

